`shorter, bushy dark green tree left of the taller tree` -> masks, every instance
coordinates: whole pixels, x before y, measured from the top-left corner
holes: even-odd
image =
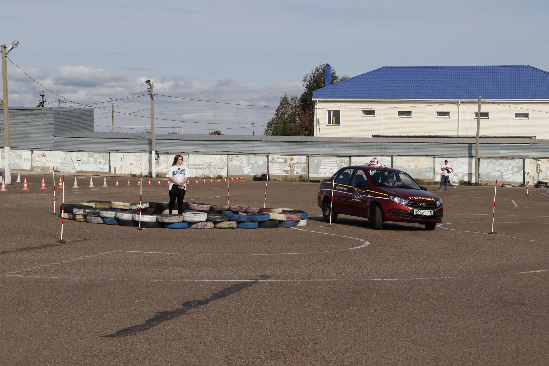
[[[264,134],[271,136],[301,136],[301,108],[299,98],[288,98],[287,94],[280,98],[275,116],[267,122]]]

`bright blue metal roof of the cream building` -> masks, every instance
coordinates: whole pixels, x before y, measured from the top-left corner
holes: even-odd
[[[549,72],[529,65],[384,66],[317,89],[313,99],[549,99]]]

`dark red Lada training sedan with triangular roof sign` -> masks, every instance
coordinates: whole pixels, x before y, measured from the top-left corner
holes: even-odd
[[[363,165],[341,168],[320,183],[318,206],[326,222],[330,219],[332,185],[332,221],[342,213],[365,217],[374,223],[375,229],[381,229],[384,221],[396,221],[425,225],[427,230],[442,222],[442,200],[427,192],[427,188],[419,187],[408,174]]]

